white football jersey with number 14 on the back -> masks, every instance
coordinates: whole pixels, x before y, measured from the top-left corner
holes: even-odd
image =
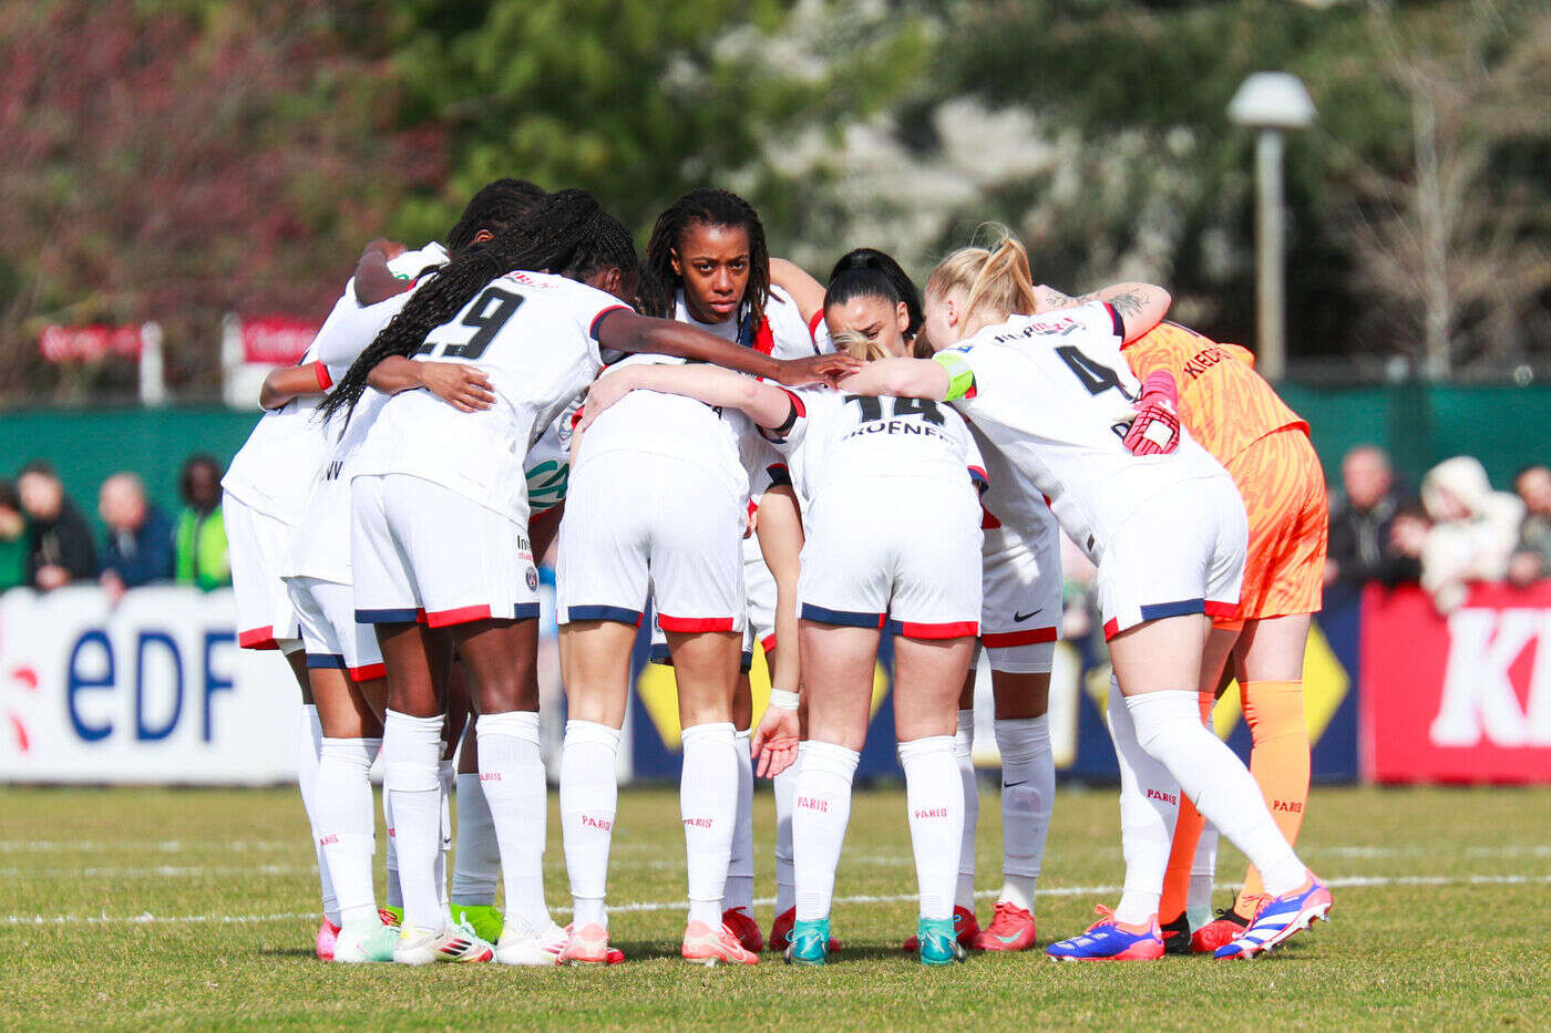
[[[813,499],[834,481],[859,476],[937,478],[985,484],[985,464],[969,428],[951,406],[921,399],[789,392],[797,419],[777,448],[786,456],[807,520]]]

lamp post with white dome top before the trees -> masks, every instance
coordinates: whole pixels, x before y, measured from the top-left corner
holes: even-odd
[[[1314,124],[1314,101],[1298,76],[1256,71],[1228,102],[1228,118],[1255,138],[1255,302],[1259,369],[1272,382],[1287,372],[1286,240],[1281,186],[1283,132]]]

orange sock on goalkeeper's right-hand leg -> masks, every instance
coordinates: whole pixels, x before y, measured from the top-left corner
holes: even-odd
[[[1309,802],[1309,727],[1303,717],[1303,682],[1249,681],[1241,686],[1241,695],[1244,720],[1255,740],[1250,774],[1259,783],[1266,807],[1270,808],[1281,834],[1294,844]],[[1183,814],[1180,819],[1183,824]],[[1171,875],[1173,861],[1171,856]],[[1188,858],[1185,867],[1187,870],[1190,867]],[[1250,865],[1233,909],[1244,917],[1253,915],[1264,892],[1259,872]]]

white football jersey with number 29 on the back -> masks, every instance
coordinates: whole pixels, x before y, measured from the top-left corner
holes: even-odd
[[[603,366],[597,324],[630,310],[613,295],[551,273],[512,271],[431,330],[419,360],[468,363],[492,408],[461,413],[430,391],[382,403],[352,476],[406,473],[527,523],[527,451]]]

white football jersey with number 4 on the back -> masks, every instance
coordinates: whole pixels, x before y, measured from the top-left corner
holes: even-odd
[[[1222,467],[1183,430],[1166,456],[1134,456],[1123,423],[1140,385],[1103,302],[1016,315],[937,354],[949,400],[1045,498],[1098,563],[1109,535],[1159,492]]]

